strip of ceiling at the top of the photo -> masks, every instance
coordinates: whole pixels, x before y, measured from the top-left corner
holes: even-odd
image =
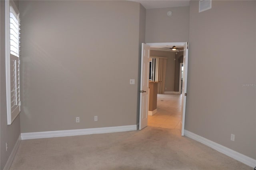
[[[189,6],[190,0],[131,0],[139,2],[146,9]]]

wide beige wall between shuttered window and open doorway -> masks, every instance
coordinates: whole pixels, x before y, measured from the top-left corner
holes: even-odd
[[[20,1],[20,13],[22,132],[137,123],[139,3]]]

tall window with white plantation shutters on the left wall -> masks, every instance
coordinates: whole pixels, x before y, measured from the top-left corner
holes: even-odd
[[[6,10],[6,103],[7,124],[20,113],[20,18],[12,1],[5,1]]]

